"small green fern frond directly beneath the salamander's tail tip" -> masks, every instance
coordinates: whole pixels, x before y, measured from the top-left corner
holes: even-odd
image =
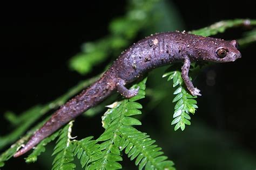
[[[47,145],[48,143],[50,143],[52,140],[55,140],[55,138],[57,138],[59,135],[59,131],[53,133],[51,136],[45,138],[44,140],[42,140],[37,146],[36,148],[33,150],[33,152],[27,157],[25,158],[27,163],[30,162],[35,162],[37,161],[37,157],[45,151],[45,145]]]

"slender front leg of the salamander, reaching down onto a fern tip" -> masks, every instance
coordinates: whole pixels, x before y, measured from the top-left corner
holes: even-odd
[[[193,86],[193,83],[190,80],[190,77],[188,76],[188,71],[190,70],[190,59],[188,57],[185,58],[184,64],[181,67],[181,77],[190,93],[193,96],[201,96],[200,90]]]

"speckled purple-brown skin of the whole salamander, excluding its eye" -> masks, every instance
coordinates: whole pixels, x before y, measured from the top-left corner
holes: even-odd
[[[89,88],[72,98],[52,115],[41,129],[37,130],[28,143],[14,157],[28,152],[45,137],[59,129],[62,125],[76,118],[82,112],[94,107],[117,90],[123,96],[130,98],[138,93],[138,89],[129,90],[126,84],[133,82],[151,69],[169,65],[174,62],[184,62],[181,75],[192,95],[200,95],[188,77],[191,61],[229,62],[241,58],[237,42],[224,41],[216,38],[195,36],[185,32],[157,33],[133,44],[105,74]],[[225,48],[227,55],[220,59],[219,48]]]

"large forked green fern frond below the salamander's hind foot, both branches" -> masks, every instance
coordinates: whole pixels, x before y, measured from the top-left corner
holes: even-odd
[[[144,79],[138,85],[139,93],[137,96],[115,102],[108,107],[102,117],[103,127],[105,132],[97,139],[97,141],[104,141],[100,144],[102,150],[102,158],[100,156],[97,161],[92,162],[88,169],[119,169],[122,166],[117,161],[122,161],[120,151],[126,148],[125,153],[131,160],[137,158],[136,165],[139,169],[146,167],[146,169],[174,169],[172,161],[166,161],[167,157],[160,156],[160,148],[157,145],[152,145],[154,140],[148,138],[146,133],[142,133],[132,128],[132,125],[141,125],[142,123],[133,117],[133,115],[142,114],[138,109],[142,109],[142,105],[135,102],[140,98],[145,97],[145,82]],[[137,140],[137,141],[134,141]],[[86,169],[87,169],[86,168]]]

